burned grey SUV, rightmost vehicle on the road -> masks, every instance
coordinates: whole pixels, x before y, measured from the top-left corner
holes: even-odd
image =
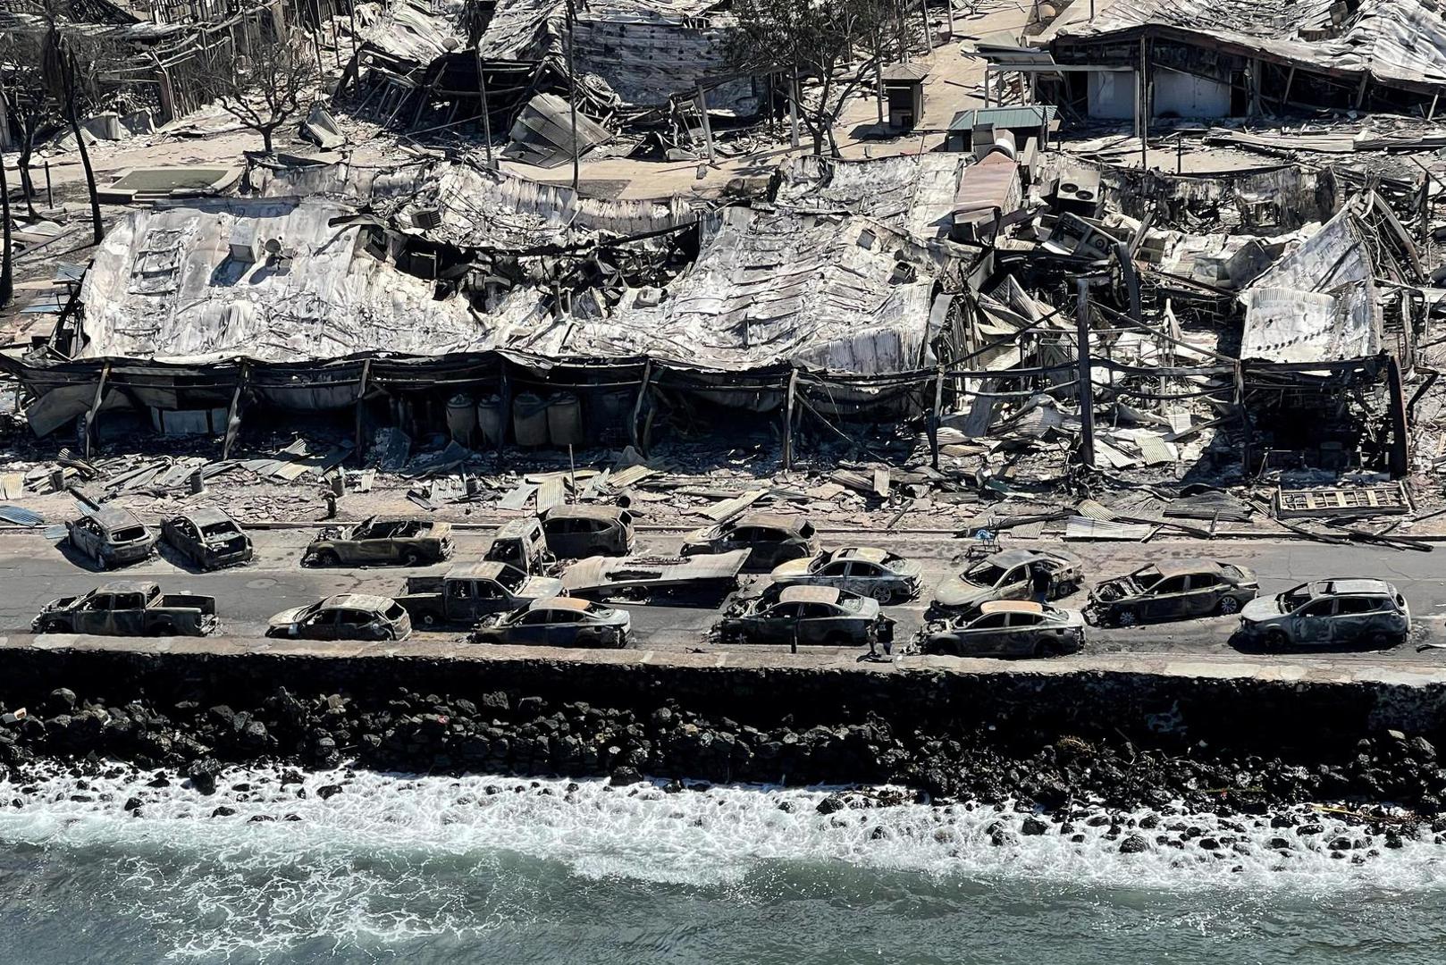
[[[1268,650],[1361,644],[1384,650],[1410,637],[1411,608],[1385,580],[1317,580],[1246,603],[1241,634]]]

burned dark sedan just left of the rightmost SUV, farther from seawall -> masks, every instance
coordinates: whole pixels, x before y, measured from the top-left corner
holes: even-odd
[[[1167,560],[1106,580],[1089,595],[1086,611],[1112,626],[1239,613],[1259,584],[1244,567],[1215,560]]]

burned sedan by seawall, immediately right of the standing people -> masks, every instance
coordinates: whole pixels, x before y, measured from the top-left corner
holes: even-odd
[[[988,600],[975,616],[931,621],[920,650],[946,657],[1060,657],[1084,645],[1079,611],[1032,600]]]

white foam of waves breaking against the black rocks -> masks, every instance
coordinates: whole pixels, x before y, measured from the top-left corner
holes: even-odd
[[[703,888],[746,888],[750,872],[778,867],[842,864],[941,880],[1132,890],[1446,890],[1446,846],[1433,843],[1434,835],[1387,849],[1379,836],[1366,843],[1362,828],[1330,815],[1313,817],[1323,826],[1317,835],[1257,828],[1252,819],[1163,816],[1160,828],[1138,832],[1148,851],[1125,855],[1124,836],[1106,838],[1106,825],[1076,822],[1074,833],[1084,839],[1071,842],[1057,826],[1022,835],[1024,816],[995,807],[904,804],[820,815],[827,790],[667,794],[603,781],[568,790],[565,780],[343,771],[282,786],[278,771],[253,770],[227,773],[218,793],[202,796],[179,783],[153,788],[147,778],[85,778],[82,787],[52,771],[25,784],[33,786],[30,793],[0,784],[0,802],[19,800],[0,810],[0,843],[100,852],[121,870],[123,888],[174,890],[137,913],[166,924],[202,922],[178,949],[197,958],[239,945],[265,952],[308,938],[393,943],[516,924],[525,914],[516,903],[460,901],[457,881],[506,875],[518,861],[557,862],[584,880]],[[234,790],[240,783],[250,790]],[[343,791],[322,799],[318,791],[330,784]],[[140,799],[139,816],[124,810],[129,797]],[[236,813],[213,817],[217,807]],[[289,815],[299,820],[286,820]],[[252,822],[257,816],[273,820]],[[1200,828],[1202,836],[1178,849],[1155,843],[1177,822]],[[991,841],[996,825],[1008,832],[1002,845]],[[1245,854],[1233,843],[1216,851],[1197,845],[1231,836]],[[1291,842],[1288,856],[1267,846],[1274,838]],[[1339,838],[1361,846],[1333,856],[1329,845]]]

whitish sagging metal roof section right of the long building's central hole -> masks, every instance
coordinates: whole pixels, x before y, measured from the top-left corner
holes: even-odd
[[[701,221],[697,262],[656,304],[577,320],[536,346],[736,369],[791,360],[882,373],[928,365],[946,259],[863,216],[729,207]]]

